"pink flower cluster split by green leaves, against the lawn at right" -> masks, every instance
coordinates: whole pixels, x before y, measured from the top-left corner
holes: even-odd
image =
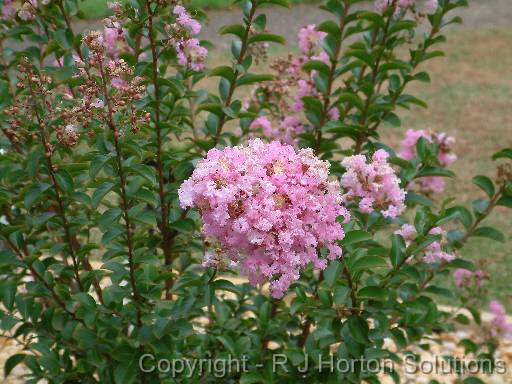
[[[455,138],[448,136],[446,133],[428,132],[424,130],[413,130],[408,129],[405,133],[405,138],[402,141],[402,150],[399,156],[405,160],[412,160],[416,157],[416,143],[424,137],[431,143],[435,143],[439,146],[438,161],[441,167],[448,167],[455,160],[457,155],[452,151],[453,143]],[[428,176],[421,179],[414,180],[411,186],[417,185],[421,190],[429,192],[443,192],[445,188],[445,181],[440,176]]]

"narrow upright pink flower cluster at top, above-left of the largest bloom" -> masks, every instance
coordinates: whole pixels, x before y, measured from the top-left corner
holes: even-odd
[[[170,34],[170,41],[176,49],[178,64],[196,72],[201,71],[208,50],[200,45],[199,39],[193,37],[201,32],[201,24],[181,5],[176,5],[173,13],[176,23],[166,26],[166,32]]]

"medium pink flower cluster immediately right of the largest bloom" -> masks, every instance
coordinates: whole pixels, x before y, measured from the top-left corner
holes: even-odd
[[[364,155],[346,157],[341,164],[346,172],[341,177],[345,202],[356,201],[364,213],[382,210],[384,217],[397,217],[405,208],[405,191],[395,171],[387,162],[388,153],[379,149],[367,163]]]

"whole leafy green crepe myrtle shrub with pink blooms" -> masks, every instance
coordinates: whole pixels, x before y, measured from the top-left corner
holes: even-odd
[[[512,206],[512,149],[466,207],[443,193],[456,159],[443,127],[395,149],[379,137],[402,108],[426,107],[408,85],[430,80],[464,0],[330,0],[272,60],[285,41],[265,13],[288,4],[244,0],[217,66],[200,9],[112,3],[101,29],[79,32],[78,5],[2,5],[0,328],[19,346],[6,375],[398,382],[362,361],[399,363],[470,321],[485,331],[461,344],[493,360],[511,327],[495,301],[480,321],[490,276],[461,249],[504,241],[486,218]],[[329,354],[354,369],[319,369]],[[229,357],[247,363],[222,377],[151,369]]]

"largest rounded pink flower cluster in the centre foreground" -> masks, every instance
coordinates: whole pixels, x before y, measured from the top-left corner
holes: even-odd
[[[253,139],[210,150],[178,193],[183,208],[199,208],[204,235],[240,262],[250,282],[270,280],[272,295],[282,297],[306,265],[326,267],[319,248],[328,259],[341,256],[337,218],[350,215],[328,176],[329,163],[311,149]]]

